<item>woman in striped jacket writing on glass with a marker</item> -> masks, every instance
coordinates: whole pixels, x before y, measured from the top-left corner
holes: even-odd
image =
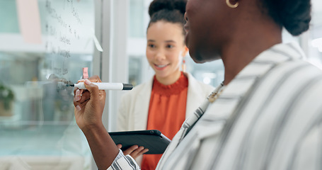
[[[156,169],[321,169],[322,71],[297,43],[282,43],[282,28],[309,29],[311,1],[189,0],[185,18],[190,56],[222,60],[224,84],[185,120]],[[86,97],[75,89],[74,106],[96,164],[139,169],[104,129],[104,92],[91,81]]]

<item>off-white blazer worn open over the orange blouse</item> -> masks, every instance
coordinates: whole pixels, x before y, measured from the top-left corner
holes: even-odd
[[[214,91],[214,87],[197,81],[189,73],[184,74],[188,77],[185,110],[185,118],[188,118]],[[135,86],[132,91],[128,91],[122,96],[117,113],[117,131],[146,130],[152,84],[153,77],[151,81]]]

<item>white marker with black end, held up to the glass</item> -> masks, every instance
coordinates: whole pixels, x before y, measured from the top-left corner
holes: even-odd
[[[123,83],[93,83],[98,86],[100,90],[132,90],[132,84]],[[84,82],[79,82],[78,84],[67,84],[67,86],[75,86],[79,89],[86,89]]]

